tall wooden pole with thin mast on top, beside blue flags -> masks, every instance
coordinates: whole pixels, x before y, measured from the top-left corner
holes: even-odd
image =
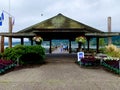
[[[12,34],[12,17],[11,17],[11,15],[10,15],[10,6],[11,5],[11,3],[10,3],[10,0],[9,0],[9,33],[10,34]],[[11,48],[12,47],[12,37],[9,37],[9,41],[8,41],[8,44],[9,44],[9,47]]]

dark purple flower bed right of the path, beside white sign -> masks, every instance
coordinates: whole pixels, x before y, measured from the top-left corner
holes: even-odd
[[[120,58],[106,55],[85,56],[76,62],[80,66],[103,66],[105,69],[120,75]]]

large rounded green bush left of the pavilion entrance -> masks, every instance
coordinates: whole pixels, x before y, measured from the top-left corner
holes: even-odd
[[[16,45],[13,48],[6,48],[3,55],[7,60],[16,61],[19,59],[20,64],[43,63],[45,58],[45,49],[40,45]]]

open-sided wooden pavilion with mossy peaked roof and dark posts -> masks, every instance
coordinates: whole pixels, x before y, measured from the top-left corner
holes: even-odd
[[[52,52],[52,40],[53,39],[67,39],[69,40],[69,53],[71,53],[71,41],[75,41],[78,36],[85,36],[87,39],[87,50],[89,50],[89,42],[91,38],[96,38],[96,51],[99,52],[99,38],[111,37],[120,35],[117,32],[103,32],[95,29],[63,14],[58,14],[45,21],[32,25],[28,28],[13,33],[0,33],[1,36],[1,52],[4,51],[4,37],[20,38],[21,44],[24,44],[24,38],[31,40],[35,35],[41,36],[44,41],[50,41],[49,53]]]

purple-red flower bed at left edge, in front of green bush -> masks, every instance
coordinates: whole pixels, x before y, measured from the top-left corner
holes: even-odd
[[[4,74],[16,66],[12,60],[0,60],[0,74]]]

